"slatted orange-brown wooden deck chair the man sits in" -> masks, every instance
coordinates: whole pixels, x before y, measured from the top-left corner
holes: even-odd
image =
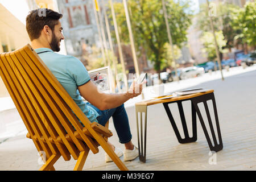
[[[111,131],[89,121],[29,44],[0,54],[0,76],[26,125],[27,137],[39,154],[46,154],[40,170],[55,170],[60,156],[66,161],[72,156],[77,160],[74,170],[82,170],[88,152],[96,154],[99,145],[119,169],[128,170],[106,143]]]

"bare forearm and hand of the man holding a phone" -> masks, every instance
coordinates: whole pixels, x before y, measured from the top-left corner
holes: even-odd
[[[96,106],[100,110],[106,110],[121,106],[130,98],[139,96],[142,92],[142,84],[133,82],[128,92],[120,94],[99,92],[97,86],[92,81],[88,81],[86,84],[78,86],[78,89],[81,96],[84,97],[86,101],[90,102],[90,104]]]

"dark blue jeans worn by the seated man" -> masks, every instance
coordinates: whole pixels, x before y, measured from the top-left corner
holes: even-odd
[[[100,110],[96,106],[90,104],[87,102],[87,104],[93,109],[97,111],[98,114],[100,114],[97,117],[98,123],[102,126],[106,125],[106,122],[108,122],[109,118],[113,118],[113,123],[115,130],[117,131],[117,135],[119,138],[120,143],[127,143],[131,140],[131,131],[130,131],[130,125],[128,116],[125,110],[124,104],[122,104],[119,107],[115,107],[113,109],[106,109],[106,110]]]

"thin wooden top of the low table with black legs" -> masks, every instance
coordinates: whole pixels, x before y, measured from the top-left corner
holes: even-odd
[[[184,96],[177,96],[177,97],[172,97],[172,98],[166,98],[166,99],[162,99],[162,100],[159,100],[159,98],[164,98],[164,97],[168,97],[168,96],[158,97],[158,98],[153,98],[151,100],[137,102],[135,104],[135,106],[150,106],[150,105],[160,104],[160,103],[165,103],[165,102],[187,100],[189,98],[202,96],[204,94],[208,94],[208,93],[212,93],[212,92],[214,92],[214,90],[207,90],[207,92],[193,93],[193,94],[188,94],[188,95],[184,95]]]

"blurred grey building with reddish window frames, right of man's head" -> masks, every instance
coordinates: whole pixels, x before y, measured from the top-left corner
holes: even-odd
[[[57,0],[68,55],[82,59],[82,45],[99,44],[93,1]]]

